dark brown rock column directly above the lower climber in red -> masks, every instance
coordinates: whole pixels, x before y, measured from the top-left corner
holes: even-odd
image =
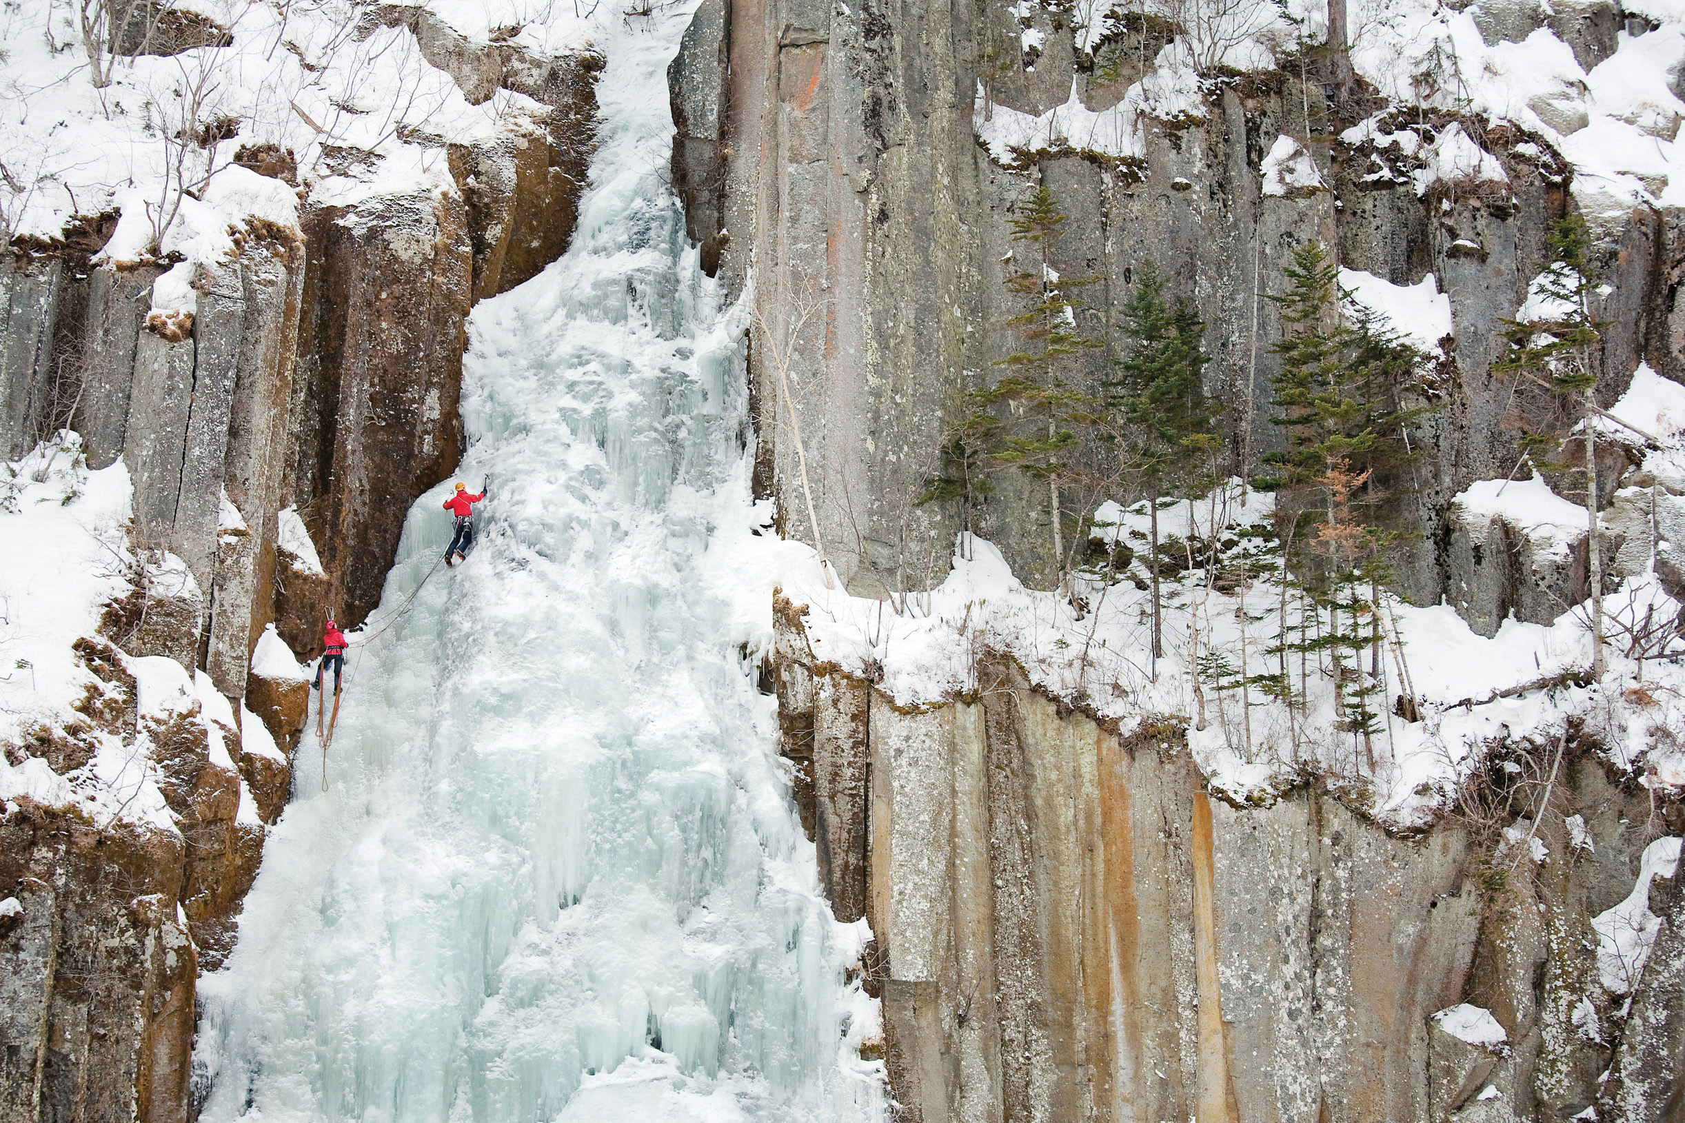
[[[295,498],[330,579],[317,630],[324,611],[350,625],[374,608],[409,503],[462,455],[465,222],[453,192],[325,209],[308,221],[315,264],[298,342]],[[374,557],[382,564],[364,562]],[[320,641],[283,638],[307,653]]]

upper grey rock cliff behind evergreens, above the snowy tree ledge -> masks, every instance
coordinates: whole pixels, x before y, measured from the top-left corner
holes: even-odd
[[[708,0],[698,12],[669,76],[674,182],[704,256],[718,258],[733,285],[753,273],[765,305],[752,357],[760,478],[778,495],[790,532],[814,537],[804,507],[785,502],[799,495],[794,416],[819,537],[849,588],[876,594],[940,576],[960,515],[917,498],[942,466],[957,396],[991,382],[992,364],[1018,347],[1006,322],[1019,308],[1003,285],[1014,249],[1009,221],[1040,182],[1068,216],[1056,269],[1094,278],[1082,290],[1082,330],[1115,347],[1136,271],[1147,259],[1168,271],[1206,317],[1206,389],[1227,406],[1230,451],[1245,458],[1281,441],[1269,423],[1279,337],[1269,296],[1284,291],[1296,246],[1321,241],[1343,266],[1395,285],[1432,273],[1451,296],[1454,337],[1444,409],[1420,434],[1427,448],[1407,515],[1420,539],[1402,559],[1402,584],[1434,603],[1484,583],[1501,586],[1505,609],[1542,611],[1527,603],[1525,583],[1481,572],[1483,557],[1451,540],[1451,497],[1511,471],[1516,406],[1545,407],[1530,389],[1516,397],[1490,365],[1498,328],[1545,256],[1545,231],[1570,209],[1572,168],[1518,126],[1424,109],[1424,121],[1473,136],[1501,180],[1452,177],[1419,190],[1410,167],[1390,167],[1380,148],[1343,133],[1385,103],[1336,103],[1318,69],[1326,62],[1314,59],[1215,82],[1174,118],[1142,114],[1141,155],[1055,136],[1051,146],[1003,157],[979,140],[974,120],[994,108],[1046,113],[1068,96],[1105,109],[1141,77],[1141,67],[1095,69],[1073,57],[1075,13],[1048,12],[1040,17],[1051,19],[1048,45],[1030,71],[1016,64],[1023,19],[1008,5],[868,3],[844,13],[804,0]],[[1616,13],[1607,5],[1586,12],[1562,34],[1589,67],[1613,54],[1614,37],[1587,29],[1613,29]],[[1490,37],[1530,30],[1495,27]],[[1146,57],[1164,42],[1151,32],[1136,39],[1122,45],[1151,47]],[[1262,162],[1284,135],[1313,138],[1319,182],[1265,194]],[[1604,207],[1594,222],[1607,283],[1597,396],[1607,404],[1641,359],[1663,375],[1685,374],[1675,327],[1685,247],[1677,216],[1653,204]],[[810,315],[797,325],[792,306]],[[787,337],[797,343],[794,409],[768,359]],[[1109,360],[1110,350],[1095,354],[1078,389],[1092,391]],[[1607,466],[1609,492],[1628,466]],[[974,529],[1001,544],[1018,572],[1046,574],[1048,515],[1038,495],[1009,476],[998,483]]]

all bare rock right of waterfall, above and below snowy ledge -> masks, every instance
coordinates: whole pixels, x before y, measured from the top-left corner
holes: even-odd
[[[1479,7],[1488,42],[1540,27],[1500,25],[1496,5]],[[1085,148],[1075,130],[991,150],[977,125],[991,111],[1043,114],[1067,98],[1100,111],[1141,77],[1085,61],[1072,19],[1058,5],[701,5],[669,74],[674,180],[709,268],[740,288],[753,279],[757,483],[780,530],[822,542],[858,596],[940,579],[959,515],[915,500],[959,394],[991,382],[1014,349],[1003,263],[1013,209],[1040,182],[1068,214],[1058,271],[1095,278],[1083,330],[1117,337],[1149,258],[1203,311],[1206,389],[1228,406],[1223,436],[1244,458],[1281,439],[1267,423],[1269,295],[1294,246],[1321,241],[1393,285],[1434,273],[1454,330],[1437,375],[1446,407],[1422,434],[1410,490],[1420,539],[1399,557],[1402,589],[1444,598],[1483,635],[1582,599],[1584,540],[1547,557],[1525,530],[1451,503],[1516,463],[1518,399],[1491,372],[1495,340],[1550,222],[1582,209],[1552,143],[1439,111],[1436,128],[1466,130],[1501,177],[1417,190],[1409,168],[1375,173],[1375,150],[1343,136],[1383,103],[1341,103],[1338,76],[1313,56],[1210,82],[1181,116],[1144,116],[1134,157]],[[1619,19],[1584,5],[1555,34],[1589,69],[1616,49]],[[1131,34],[1141,59],[1168,40],[1147,42],[1149,25]],[[1264,157],[1284,135],[1311,138],[1316,182],[1265,192]],[[1685,375],[1685,242],[1666,207],[1587,214],[1607,281],[1607,404],[1640,360]],[[1105,362],[1097,354],[1087,377]],[[1636,507],[1619,512],[1640,500],[1613,493],[1653,480],[1631,475],[1640,455],[1604,455],[1606,519],[1636,527]],[[1016,572],[1048,579],[1043,495],[1003,478],[976,520]],[[1648,547],[1650,532],[1634,535]],[[871,971],[905,1118],[1678,1113],[1677,951],[1658,943],[1631,1007],[1614,1009],[1596,985],[1591,918],[1633,891],[1650,838],[1685,823],[1677,801],[1606,773],[1596,737],[1564,742],[1549,813],[1493,810],[1484,776],[1442,823],[1395,837],[1351,810],[1360,793],[1319,783],[1267,806],[1225,803],[1206,793],[1181,724],[1121,737],[1031,689],[1009,655],[976,668],[987,684],[976,695],[896,705],[869,677],[817,660],[800,615],[789,603],[778,613],[785,754],[839,919],[866,916],[878,936]],[[1528,769],[1550,763],[1537,746],[1511,749]],[[1579,842],[1574,815],[1589,827]],[[1677,939],[1680,894],[1650,884]],[[1464,1002],[1491,1010],[1506,1039],[1469,1044],[1431,1019]]]

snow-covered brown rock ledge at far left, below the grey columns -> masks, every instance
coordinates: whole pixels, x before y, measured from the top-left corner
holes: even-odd
[[[130,505],[128,470],[89,470],[74,433],[0,465],[0,1005],[34,1057],[0,1096],[177,1118],[195,975],[233,945],[292,769],[190,670],[199,588],[135,546]]]

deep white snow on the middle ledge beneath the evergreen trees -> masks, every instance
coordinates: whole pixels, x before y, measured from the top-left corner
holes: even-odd
[[[1264,524],[1270,510],[1270,497],[1235,482],[1200,500],[1161,500],[1159,532],[1164,539],[1185,537],[1190,529],[1210,535],[1215,525],[1230,535]],[[1127,512],[1115,503],[1102,507],[1099,520],[1115,524],[1107,534],[1119,540],[1144,546],[1144,503]],[[1607,742],[1611,763],[1636,771],[1641,783],[1685,786],[1685,751],[1666,736],[1685,722],[1685,668],[1656,660],[1640,668],[1613,648],[1607,677],[1575,685],[1591,665],[1586,606],[1550,625],[1506,620],[1486,638],[1449,606],[1424,608],[1383,594],[1383,635],[1399,641],[1383,645],[1377,709],[1385,729],[1370,768],[1355,737],[1336,729],[1331,684],[1314,665],[1299,712],[1252,690],[1247,714],[1238,689],[1203,679],[1206,721],[1196,727],[1195,626],[1198,652],[1223,652],[1237,670],[1244,652],[1252,673],[1274,670],[1277,660],[1265,648],[1276,640],[1281,586],[1272,576],[1244,594],[1205,588],[1203,577],[1168,581],[1164,658],[1156,668],[1149,655],[1151,593],[1127,579],[1105,584],[1083,576],[1073,579],[1070,596],[1028,589],[992,544],[969,535],[960,537],[942,584],[901,601],[827,589],[805,547],[787,551],[777,581],[805,606],[816,658],[853,673],[869,667],[903,705],[971,695],[981,685],[979,657],[1008,653],[1036,687],[1115,721],[1126,734],[1149,721],[1186,726],[1201,773],[1237,800],[1269,801],[1309,771],[1353,793],[1367,790],[1368,810],[1388,827],[1419,827],[1456,798],[1488,744],[1555,741],[1570,717],[1584,719]],[[1616,621],[1611,631],[1646,609],[1656,620],[1680,611],[1653,576],[1631,577],[1604,598],[1604,611]],[[1289,630],[1301,620],[1289,598]],[[1289,662],[1297,682],[1297,658]],[[1370,665],[1368,653],[1363,665]],[[1419,721],[1393,712],[1407,692],[1404,675]]]

